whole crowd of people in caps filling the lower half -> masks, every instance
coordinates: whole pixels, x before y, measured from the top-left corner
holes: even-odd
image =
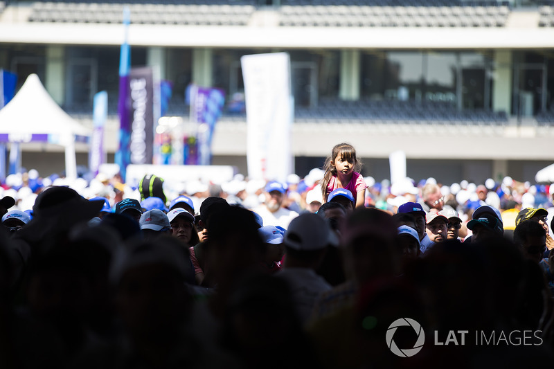
[[[552,365],[554,186],[360,168],[340,144],[286,183],[11,177],[0,368]]]

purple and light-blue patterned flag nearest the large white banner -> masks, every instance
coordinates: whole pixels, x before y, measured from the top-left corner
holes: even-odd
[[[198,165],[210,165],[213,131],[222,113],[225,92],[222,89],[196,87],[191,100],[190,121],[198,123]]]

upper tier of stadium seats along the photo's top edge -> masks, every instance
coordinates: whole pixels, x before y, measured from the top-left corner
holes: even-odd
[[[126,1],[84,0],[35,2],[30,21],[118,23]],[[321,27],[501,27],[506,4],[460,0],[283,0],[281,26]],[[354,4],[354,5],[352,5]],[[255,0],[134,0],[129,5],[136,24],[245,26]],[[543,7],[545,12],[550,7]],[[548,13],[542,25],[554,21]],[[543,21],[544,19],[544,21]]]

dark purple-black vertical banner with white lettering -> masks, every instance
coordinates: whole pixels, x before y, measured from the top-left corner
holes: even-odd
[[[152,68],[133,68],[129,73],[132,164],[152,164],[154,155],[154,78]]]

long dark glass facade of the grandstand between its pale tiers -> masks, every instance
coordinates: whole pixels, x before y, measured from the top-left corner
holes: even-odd
[[[148,48],[132,47],[131,51],[133,66],[148,63]],[[298,107],[314,108],[321,99],[339,99],[340,50],[214,48],[213,86],[224,89],[229,97],[244,93],[240,57],[276,51],[290,55],[292,91]],[[118,46],[63,46],[64,108],[90,111],[94,94],[107,91],[110,110],[116,111],[119,52]],[[193,79],[193,49],[162,48],[161,53],[166,63],[161,69],[173,87],[172,102],[180,106]],[[501,109],[509,110],[506,113],[512,116],[552,114],[554,53],[503,51],[508,58],[500,61],[495,59],[496,53],[361,50],[359,71],[351,76],[359,78],[361,100],[406,101],[416,105],[436,102],[458,109],[492,110],[497,109],[493,105],[494,94],[498,93],[496,101],[505,100]],[[30,73],[37,73],[46,85],[47,55],[48,46],[3,45],[0,68],[17,73],[18,88]]]

